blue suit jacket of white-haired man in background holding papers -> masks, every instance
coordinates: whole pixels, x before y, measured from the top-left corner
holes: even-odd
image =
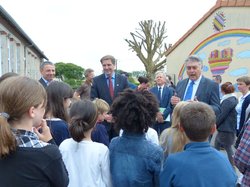
[[[153,93],[156,97],[158,94],[158,86],[155,86],[150,89],[150,92]],[[159,101],[159,106],[162,108],[166,108],[163,112],[163,118],[166,119],[169,114],[172,113],[172,108],[170,105],[170,99],[174,94],[174,90],[172,88],[169,88],[167,86],[164,86],[162,89],[162,97],[161,101]]]

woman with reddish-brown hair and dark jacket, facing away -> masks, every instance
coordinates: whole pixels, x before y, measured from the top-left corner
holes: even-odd
[[[236,136],[237,112],[235,107],[238,100],[234,94],[234,86],[231,82],[222,84],[221,92],[223,94],[220,101],[221,113],[216,121],[218,134],[214,145],[217,150],[225,148],[230,163],[234,165],[232,146]]]

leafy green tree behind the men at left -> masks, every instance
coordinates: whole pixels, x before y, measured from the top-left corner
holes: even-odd
[[[56,78],[68,83],[73,89],[78,88],[83,81],[84,69],[72,63],[58,62],[55,64]]]

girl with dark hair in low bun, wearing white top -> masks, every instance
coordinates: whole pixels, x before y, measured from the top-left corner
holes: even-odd
[[[97,108],[90,100],[77,101],[70,108],[70,135],[59,149],[69,173],[69,187],[109,187],[109,150],[91,140]]]

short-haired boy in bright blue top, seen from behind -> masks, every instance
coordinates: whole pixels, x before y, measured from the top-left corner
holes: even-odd
[[[180,112],[180,130],[189,139],[184,151],[171,154],[164,163],[160,186],[235,187],[237,176],[228,159],[208,142],[216,129],[215,113],[202,102],[190,102]]]

